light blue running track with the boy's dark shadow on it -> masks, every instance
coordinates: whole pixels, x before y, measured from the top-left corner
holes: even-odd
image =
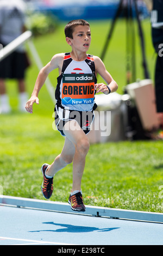
[[[154,216],[154,221],[131,220],[132,214],[136,218],[135,214],[139,216],[140,212],[121,210],[116,214],[127,214],[131,219],[124,219],[124,216],[97,217],[103,208],[96,208],[98,214],[93,216],[76,214],[68,204],[59,203],[60,212],[48,209],[50,204],[55,210],[56,203],[53,202],[47,202],[46,207],[44,200],[12,199],[0,198],[0,245],[57,245],[59,248],[82,245],[84,250],[90,245],[163,245],[163,214],[146,215],[147,218]],[[37,209],[33,208],[33,204]],[[41,205],[47,209],[41,209]],[[87,206],[87,209],[93,212],[95,208]],[[142,216],[145,218],[145,215]]]

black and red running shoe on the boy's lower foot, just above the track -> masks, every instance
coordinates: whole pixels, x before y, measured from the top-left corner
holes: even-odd
[[[81,192],[73,194],[73,196],[71,196],[70,194],[68,203],[71,205],[71,209],[73,211],[85,211],[85,205],[83,203],[83,197]]]

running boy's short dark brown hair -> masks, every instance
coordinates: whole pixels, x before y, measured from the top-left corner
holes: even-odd
[[[79,19],[79,20],[72,20],[70,22],[67,23],[67,25],[65,26],[65,35],[68,38],[73,39],[72,33],[74,31],[74,28],[77,26],[89,26],[89,23],[85,20]]]

